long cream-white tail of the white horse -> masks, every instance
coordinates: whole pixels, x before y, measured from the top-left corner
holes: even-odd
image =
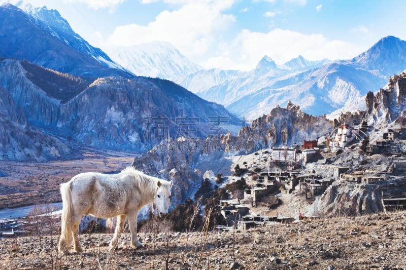
[[[71,244],[72,219],[74,215],[71,182],[61,184],[59,190],[62,197],[62,218],[59,251],[65,252]]]

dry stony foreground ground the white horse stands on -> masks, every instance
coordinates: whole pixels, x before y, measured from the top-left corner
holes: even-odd
[[[162,232],[162,227],[159,227]],[[311,219],[234,232],[80,235],[84,252],[57,253],[58,236],[0,239],[1,269],[406,269],[406,212]]]

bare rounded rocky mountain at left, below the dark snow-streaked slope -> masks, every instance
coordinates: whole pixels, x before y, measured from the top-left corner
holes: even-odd
[[[220,125],[217,118],[230,129],[239,121],[223,106],[170,81],[143,77],[93,81],[8,58],[0,59],[0,71],[0,86],[12,99],[3,108],[5,117],[10,113],[13,121],[12,112],[19,111],[19,121],[93,147],[143,152],[170,137],[205,138]],[[11,131],[8,126],[4,128]],[[42,137],[46,136],[51,135]],[[23,138],[18,141],[29,141]],[[59,147],[58,143],[54,146]],[[38,156],[29,158],[15,151],[13,159],[17,160]],[[62,155],[66,150],[58,152]]]

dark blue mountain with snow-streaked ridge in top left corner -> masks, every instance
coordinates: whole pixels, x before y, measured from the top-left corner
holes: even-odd
[[[132,76],[75,33],[58,11],[33,8],[22,1],[16,6],[4,2],[0,6],[0,56],[76,75]]]

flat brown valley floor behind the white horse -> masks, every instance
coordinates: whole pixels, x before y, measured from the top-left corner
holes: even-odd
[[[60,202],[59,185],[82,172],[119,172],[130,166],[128,153],[80,149],[75,159],[49,162],[0,161],[0,209]]]

